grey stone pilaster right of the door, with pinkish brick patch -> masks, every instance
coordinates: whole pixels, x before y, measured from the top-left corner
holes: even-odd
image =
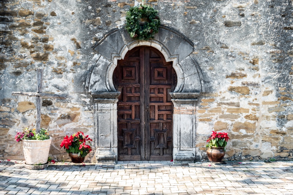
[[[170,93],[173,111],[173,159],[174,163],[194,163],[195,160],[195,112],[200,93]]]

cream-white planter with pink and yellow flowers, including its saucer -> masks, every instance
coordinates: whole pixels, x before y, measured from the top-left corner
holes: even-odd
[[[36,133],[35,129],[25,128],[22,132],[16,133],[15,140],[22,141],[26,168],[41,169],[45,168],[45,164],[47,166],[52,141],[47,129],[41,128],[40,132]]]

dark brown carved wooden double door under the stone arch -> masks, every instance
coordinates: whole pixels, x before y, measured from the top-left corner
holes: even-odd
[[[168,161],[173,153],[173,103],[177,84],[172,62],[153,47],[140,46],[117,61],[118,161]]]

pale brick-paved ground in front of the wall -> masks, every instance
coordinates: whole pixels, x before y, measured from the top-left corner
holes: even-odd
[[[0,164],[2,194],[293,194],[293,161],[173,164],[119,161],[117,165],[50,163],[28,170],[23,161]]]

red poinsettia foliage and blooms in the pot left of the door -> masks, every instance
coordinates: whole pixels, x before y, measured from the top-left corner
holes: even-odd
[[[85,157],[91,149],[91,138],[84,136],[84,133],[79,131],[73,136],[64,137],[64,140],[61,142],[60,147],[64,146],[64,149],[67,153],[76,153],[78,156]]]

